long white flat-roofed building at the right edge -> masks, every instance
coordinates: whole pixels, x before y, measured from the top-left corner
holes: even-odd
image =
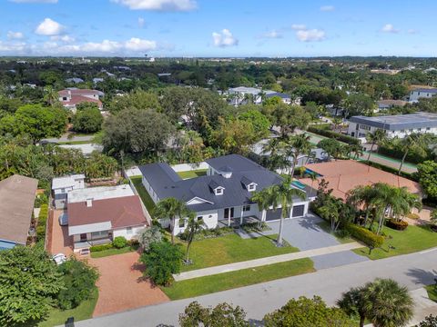
[[[387,137],[403,138],[408,134],[437,134],[437,114],[415,113],[390,116],[353,116],[350,119],[348,134],[365,138],[376,130],[384,130]]]

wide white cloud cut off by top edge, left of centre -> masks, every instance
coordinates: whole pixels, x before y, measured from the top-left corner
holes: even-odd
[[[196,0],[111,0],[126,5],[131,10],[156,10],[164,12],[190,11],[197,8]]]

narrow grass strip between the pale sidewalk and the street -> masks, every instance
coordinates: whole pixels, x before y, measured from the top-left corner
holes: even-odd
[[[269,282],[307,272],[315,272],[315,269],[313,262],[309,258],[304,258],[286,263],[274,263],[257,268],[243,269],[237,272],[224,272],[187,281],[174,282],[172,286],[161,287],[161,289],[171,300],[178,300],[230,290],[259,282]]]

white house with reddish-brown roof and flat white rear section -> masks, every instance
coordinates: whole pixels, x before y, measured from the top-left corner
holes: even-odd
[[[68,235],[75,252],[110,243],[117,236],[137,238],[150,218],[130,185],[92,187],[68,193]]]

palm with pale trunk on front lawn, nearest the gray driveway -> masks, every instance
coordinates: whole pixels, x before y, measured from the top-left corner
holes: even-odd
[[[299,189],[291,185],[291,179],[286,178],[283,183],[279,185],[270,186],[269,189],[269,200],[271,201],[271,206],[273,210],[279,208],[282,209],[279,221],[279,234],[278,234],[278,245],[282,245],[282,234],[284,229],[284,219],[289,216],[290,208],[293,207],[293,197],[298,196],[300,199],[305,199],[306,194]]]

